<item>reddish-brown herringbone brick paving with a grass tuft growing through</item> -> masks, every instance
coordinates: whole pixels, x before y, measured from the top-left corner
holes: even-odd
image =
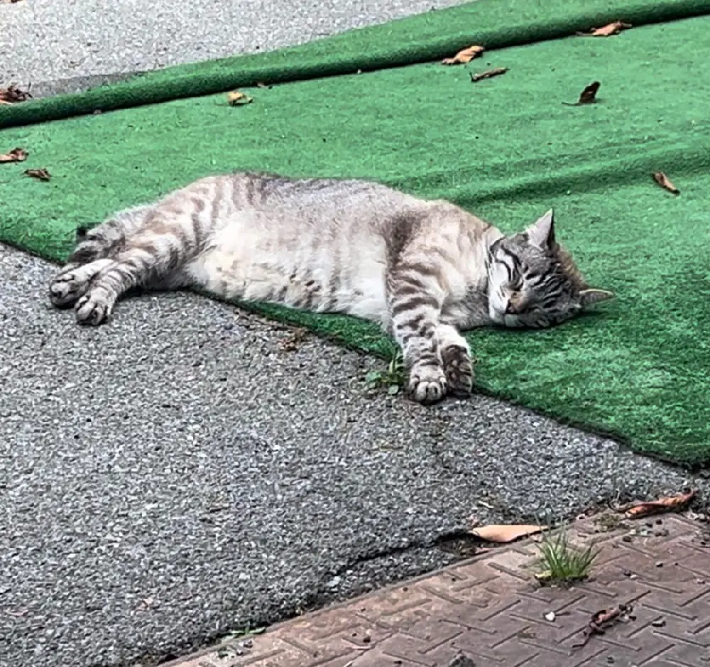
[[[570,531],[601,547],[572,587],[535,580],[533,538],[171,666],[710,667],[708,524],[665,515],[599,526],[593,517]],[[619,604],[628,616],[580,646],[592,614]]]

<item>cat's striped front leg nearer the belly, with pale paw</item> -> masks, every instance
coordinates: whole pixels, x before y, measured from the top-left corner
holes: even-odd
[[[408,394],[419,403],[436,403],[448,390],[437,335],[444,290],[437,273],[422,265],[401,265],[388,286],[392,332],[409,372]]]

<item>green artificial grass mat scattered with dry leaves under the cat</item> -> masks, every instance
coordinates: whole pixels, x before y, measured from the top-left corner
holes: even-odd
[[[552,206],[558,237],[589,281],[618,296],[553,330],[471,332],[479,387],[616,435],[638,452],[704,465],[710,460],[710,17],[657,22],[704,11],[710,4],[699,1],[481,0],[322,40],[311,51],[307,45],[229,60],[229,75],[219,63],[190,65],[174,68],[175,80],[165,70],[87,97],[27,104],[34,112],[20,104],[0,114],[0,123],[16,125],[0,131],[0,153],[20,146],[30,154],[25,163],[0,165],[0,240],[61,261],[77,225],[235,169],[379,180],[446,197],[506,231]],[[573,34],[601,25],[599,17],[630,21],[632,12],[633,23],[648,24],[611,38]],[[393,65],[438,59],[479,41],[464,38],[476,30],[467,32],[462,17],[486,34],[497,30],[495,43],[517,45],[465,67],[419,63],[242,88],[254,98],[242,107],[214,94],[21,125],[87,109],[86,99],[102,95],[121,106],[121,94],[135,85],[138,92],[124,98],[131,106],[149,80],[160,97],[160,90],[178,94],[180,82],[211,72],[212,83],[195,84],[195,94],[209,92],[215,81],[239,80],[240,62],[247,72],[271,68],[268,80],[275,81],[283,60],[281,80],[341,73],[336,65],[319,70],[319,58],[342,58],[350,70],[356,62],[382,67],[388,49]],[[514,26],[507,38],[496,21]],[[559,37],[559,26],[572,36],[550,40]],[[547,40],[523,44],[540,36]],[[357,53],[363,44],[370,53]],[[283,53],[297,53],[295,60],[313,69],[304,65],[293,74]],[[469,72],[491,67],[510,69],[471,83]],[[563,104],[594,80],[601,82],[599,102]],[[50,183],[22,175],[39,167],[50,171]],[[655,170],[667,173],[681,194],[656,185]],[[117,309],[114,326],[129,307]],[[251,307],[368,352],[393,349],[376,327],[353,318]]]

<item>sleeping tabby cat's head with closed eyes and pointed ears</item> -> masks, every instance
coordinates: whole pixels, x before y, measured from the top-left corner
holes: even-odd
[[[552,210],[488,251],[488,314],[496,324],[550,327],[611,298],[612,292],[586,284],[572,256],[555,241]]]

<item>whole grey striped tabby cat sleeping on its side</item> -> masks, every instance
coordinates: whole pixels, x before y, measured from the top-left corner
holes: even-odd
[[[460,330],[548,327],[613,296],[586,285],[552,211],[506,237],[452,203],[359,180],[210,176],[78,236],[50,298],[80,324],[134,287],[349,313],[391,332],[420,403],[470,394]]]

